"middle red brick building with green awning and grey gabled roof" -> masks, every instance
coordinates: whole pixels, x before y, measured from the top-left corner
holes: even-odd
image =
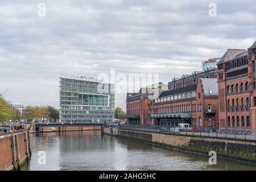
[[[196,77],[193,84],[162,92],[149,102],[151,125],[189,123],[197,127],[218,127],[216,78]]]

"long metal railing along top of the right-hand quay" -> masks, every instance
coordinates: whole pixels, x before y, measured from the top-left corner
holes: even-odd
[[[147,131],[164,134],[192,135],[200,137],[256,140],[255,129],[245,127],[172,127],[166,125],[121,125],[119,129]]]

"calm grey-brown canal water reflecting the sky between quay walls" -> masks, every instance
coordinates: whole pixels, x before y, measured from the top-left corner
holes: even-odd
[[[100,131],[31,134],[31,146],[30,162],[22,170],[256,170],[218,158],[216,165],[210,165],[207,156],[101,135]]]

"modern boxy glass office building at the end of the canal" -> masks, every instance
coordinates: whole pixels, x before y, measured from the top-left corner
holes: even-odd
[[[60,77],[61,122],[114,122],[114,84],[87,77]]]

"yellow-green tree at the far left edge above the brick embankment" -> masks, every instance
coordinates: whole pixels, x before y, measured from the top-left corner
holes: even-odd
[[[0,122],[3,123],[14,118],[15,112],[11,109],[11,105],[0,95]]]

